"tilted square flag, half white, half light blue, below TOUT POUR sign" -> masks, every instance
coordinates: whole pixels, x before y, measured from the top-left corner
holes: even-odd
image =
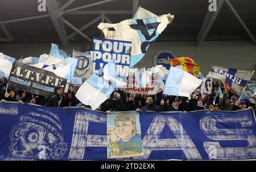
[[[109,98],[114,88],[97,74],[92,74],[76,93],[76,98],[83,104],[90,105],[92,110]]]

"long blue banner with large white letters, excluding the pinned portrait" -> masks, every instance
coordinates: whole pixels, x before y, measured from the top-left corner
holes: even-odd
[[[139,120],[143,156],[118,160],[256,158],[253,110],[140,112]],[[0,103],[0,160],[107,160],[106,135],[102,112]]]

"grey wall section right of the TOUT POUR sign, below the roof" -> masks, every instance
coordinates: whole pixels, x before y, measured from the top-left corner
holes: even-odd
[[[135,67],[151,68],[153,57],[160,49],[170,49],[178,57],[191,57],[201,66],[201,73],[209,73],[211,65],[241,70],[256,70],[256,45],[250,41],[205,41],[197,47],[194,41],[155,42]],[[254,74],[253,80],[256,80]]]

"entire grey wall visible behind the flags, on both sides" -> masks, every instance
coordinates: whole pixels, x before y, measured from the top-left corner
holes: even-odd
[[[72,54],[73,49],[81,51],[86,49],[87,44],[70,43],[68,48],[63,48],[67,54]],[[40,54],[49,53],[51,44],[0,44],[0,52],[11,57],[21,56],[39,57]],[[170,49],[178,57],[191,57],[201,66],[201,72],[206,75],[211,65],[225,66],[242,70],[256,70],[256,45],[250,41],[205,41],[203,45],[197,47],[194,41],[172,41],[155,42],[150,45],[147,54],[135,67],[151,68],[154,66],[154,54],[160,49]],[[253,80],[256,81],[254,74]]]

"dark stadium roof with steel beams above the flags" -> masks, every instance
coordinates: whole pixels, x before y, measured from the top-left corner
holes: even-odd
[[[213,0],[214,1],[214,0]],[[46,2],[46,11],[38,6]],[[69,43],[102,36],[97,25],[133,18],[138,7],[175,15],[157,41],[248,40],[256,44],[256,1],[217,0],[1,0],[0,43]]]

